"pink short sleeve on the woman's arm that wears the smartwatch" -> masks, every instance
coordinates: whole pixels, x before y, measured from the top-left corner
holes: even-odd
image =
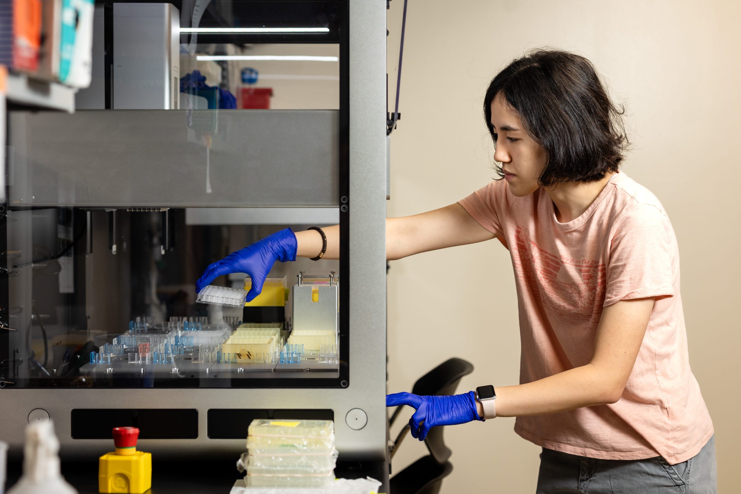
[[[618,218],[611,233],[604,307],[633,298],[674,296],[677,238],[669,218],[639,204]]]

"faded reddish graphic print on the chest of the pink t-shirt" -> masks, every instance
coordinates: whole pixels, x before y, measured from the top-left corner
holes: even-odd
[[[514,263],[516,273],[531,294],[561,321],[595,327],[605,302],[604,263],[588,259],[569,259],[542,249],[530,239],[528,230],[516,227]]]

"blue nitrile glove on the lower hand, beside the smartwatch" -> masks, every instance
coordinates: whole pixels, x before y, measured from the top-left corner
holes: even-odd
[[[476,395],[473,391],[462,395],[419,396],[412,393],[386,395],[386,406],[409,405],[416,412],[409,419],[412,437],[424,441],[432,427],[438,425],[465,424],[474,420],[483,421],[476,410]]]

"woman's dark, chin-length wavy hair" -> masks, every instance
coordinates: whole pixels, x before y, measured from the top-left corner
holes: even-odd
[[[588,59],[539,49],[498,73],[484,98],[486,125],[495,146],[491,102],[498,93],[519,113],[528,135],[545,149],[541,186],[596,181],[619,169],[628,147],[625,110],[610,100]],[[502,165],[495,166],[502,178]]]

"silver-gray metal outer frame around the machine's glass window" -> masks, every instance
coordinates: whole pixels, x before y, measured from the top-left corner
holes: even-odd
[[[346,1],[346,17],[340,30],[340,99],[348,101],[349,106],[339,113],[339,143],[346,142],[348,145],[338,146],[341,165],[336,201],[329,201],[329,204],[309,204],[315,207],[339,207],[343,263],[340,377],[328,380],[289,378],[271,380],[270,383],[253,382],[247,386],[261,387],[250,387],[248,390],[233,387],[55,389],[8,385],[0,389],[0,417],[3,418],[0,438],[10,443],[11,454],[20,453],[24,426],[29,414],[36,409],[46,410],[53,419],[62,444],[62,455],[68,458],[90,458],[104,453],[110,449],[110,441],[73,439],[70,431],[70,410],[101,407],[196,409],[199,423],[197,438],[142,439],[139,447],[160,458],[232,454],[244,449],[244,440],[208,438],[207,410],[259,408],[331,409],[335,420],[336,444],[343,458],[385,458],[386,9],[385,4],[380,1]],[[346,81],[346,84],[342,84],[342,81]],[[104,112],[99,112],[99,115],[103,118]],[[154,113],[150,113],[151,115]],[[267,117],[272,118],[269,115]],[[13,116],[10,119],[10,135],[22,133],[22,121],[33,118],[27,115]],[[168,116],[162,118],[167,119]],[[310,126],[304,128],[311,130]],[[348,166],[342,166],[343,162],[348,163]],[[76,204],[71,202],[70,205]],[[182,207],[201,205],[182,204]],[[13,204],[9,206],[13,207]],[[0,231],[0,237],[7,235],[6,227]],[[7,240],[0,238],[0,241]],[[12,262],[8,261],[8,265],[10,264]],[[7,294],[8,281],[4,278],[0,280],[0,296],[7,301]],[[7,323],[7,314],[0,314],[0,321]],[[7,331],[0,330],[2,356],[9,355],[8,334]],[[10,384],[10,378],[3,370],[0,370],[0,381]],[[346,421],[345,418],[349,416],[356,420],[358,410],[362,410],[367,416],[367,424],[362,429],[354,430],[348,425],[350,419]],[[167,427],[167,424],[162,424],[162,427]]]

